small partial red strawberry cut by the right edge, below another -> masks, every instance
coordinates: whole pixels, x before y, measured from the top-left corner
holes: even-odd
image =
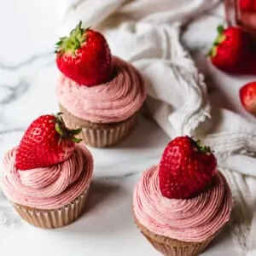
[[[256,115],[256,82],[243,85],[239,94],[242,106],[247,112]]]

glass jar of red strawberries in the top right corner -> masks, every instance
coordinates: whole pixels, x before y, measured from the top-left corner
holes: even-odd
[[[224,6],[228,25],[241,26],[256,38],[256,3],[253,0],[224,0]]]

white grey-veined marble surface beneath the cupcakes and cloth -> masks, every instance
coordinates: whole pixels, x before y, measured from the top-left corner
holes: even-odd
[[[61,26],[61,1],[0,2],[0,157],[19,143],[26,126],[42,113],[57,110],[53,46]],[[218,72],[204,58],[222,23],[223,7],[191,20],[183,34],[201,71],[207,75],[212,103],[243,111],[237,91],[245,80]],[[108,149],[91,148],[94,182],[88,211],[60,230],[39,230],[15,218],[0,232],[1,255],[159,255],[140,235],[131,212],[132,190],[140,173],[160,160],[168,142],[163,131],[141,119],[124,143]],[[0,217],[5,208],[0,207]],[[36,252],[36,253],[35,253]],[[203,255],[241,255],[226,229]]]

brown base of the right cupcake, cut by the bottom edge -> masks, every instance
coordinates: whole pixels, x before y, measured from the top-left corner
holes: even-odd
[[[178,241],[166,236],[159,236],[147,228],[135,219],[137,227],[141,230],[143,236],[152,244],[152,246],[158,250],[160,253],[163,253],[166,256],[196,256],[199,253],[202,253],[210,242],[218,234],[211,236],[206,241],[202,242],[188,242],[188,241]]]

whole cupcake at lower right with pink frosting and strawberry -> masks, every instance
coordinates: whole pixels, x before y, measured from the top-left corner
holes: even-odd
[[[202,253],[230,219],[231,192],[208,147],[190,137],[169,143],[143,172],[133,212],[143,236],[164,255]]]

